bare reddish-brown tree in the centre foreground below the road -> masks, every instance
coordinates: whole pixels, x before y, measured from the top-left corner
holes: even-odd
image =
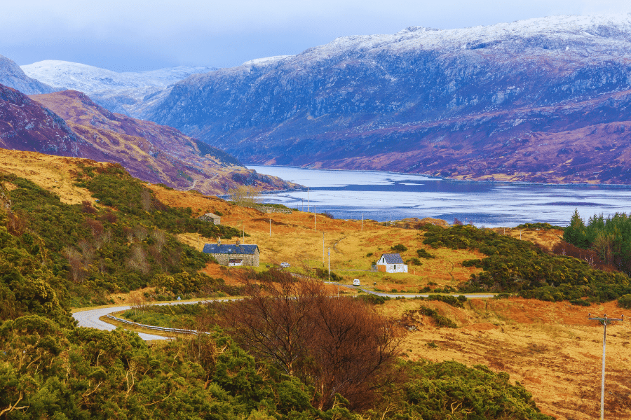
[[[244,279],[245,298],[216,306],[219,324],[248,351],[314,386],[327,409],[337,393],[361,407],[393,381],[400,335],[393,321],[325,285],[271,269]]]

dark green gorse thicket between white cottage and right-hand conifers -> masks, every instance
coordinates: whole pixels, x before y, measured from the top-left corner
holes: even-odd
[[[563,255],[552,255],[535,244],[498,235],[488,229],[454,226],[427,232],[423,243],[454,249],[475,249],[487,255],[468,260],[466,266],[484,271],[471,274],[461,290],[520,293],[541,300],[578,300],[608,302],[631,293],[630,279],[622,273],[592,269],[588,262]]]

